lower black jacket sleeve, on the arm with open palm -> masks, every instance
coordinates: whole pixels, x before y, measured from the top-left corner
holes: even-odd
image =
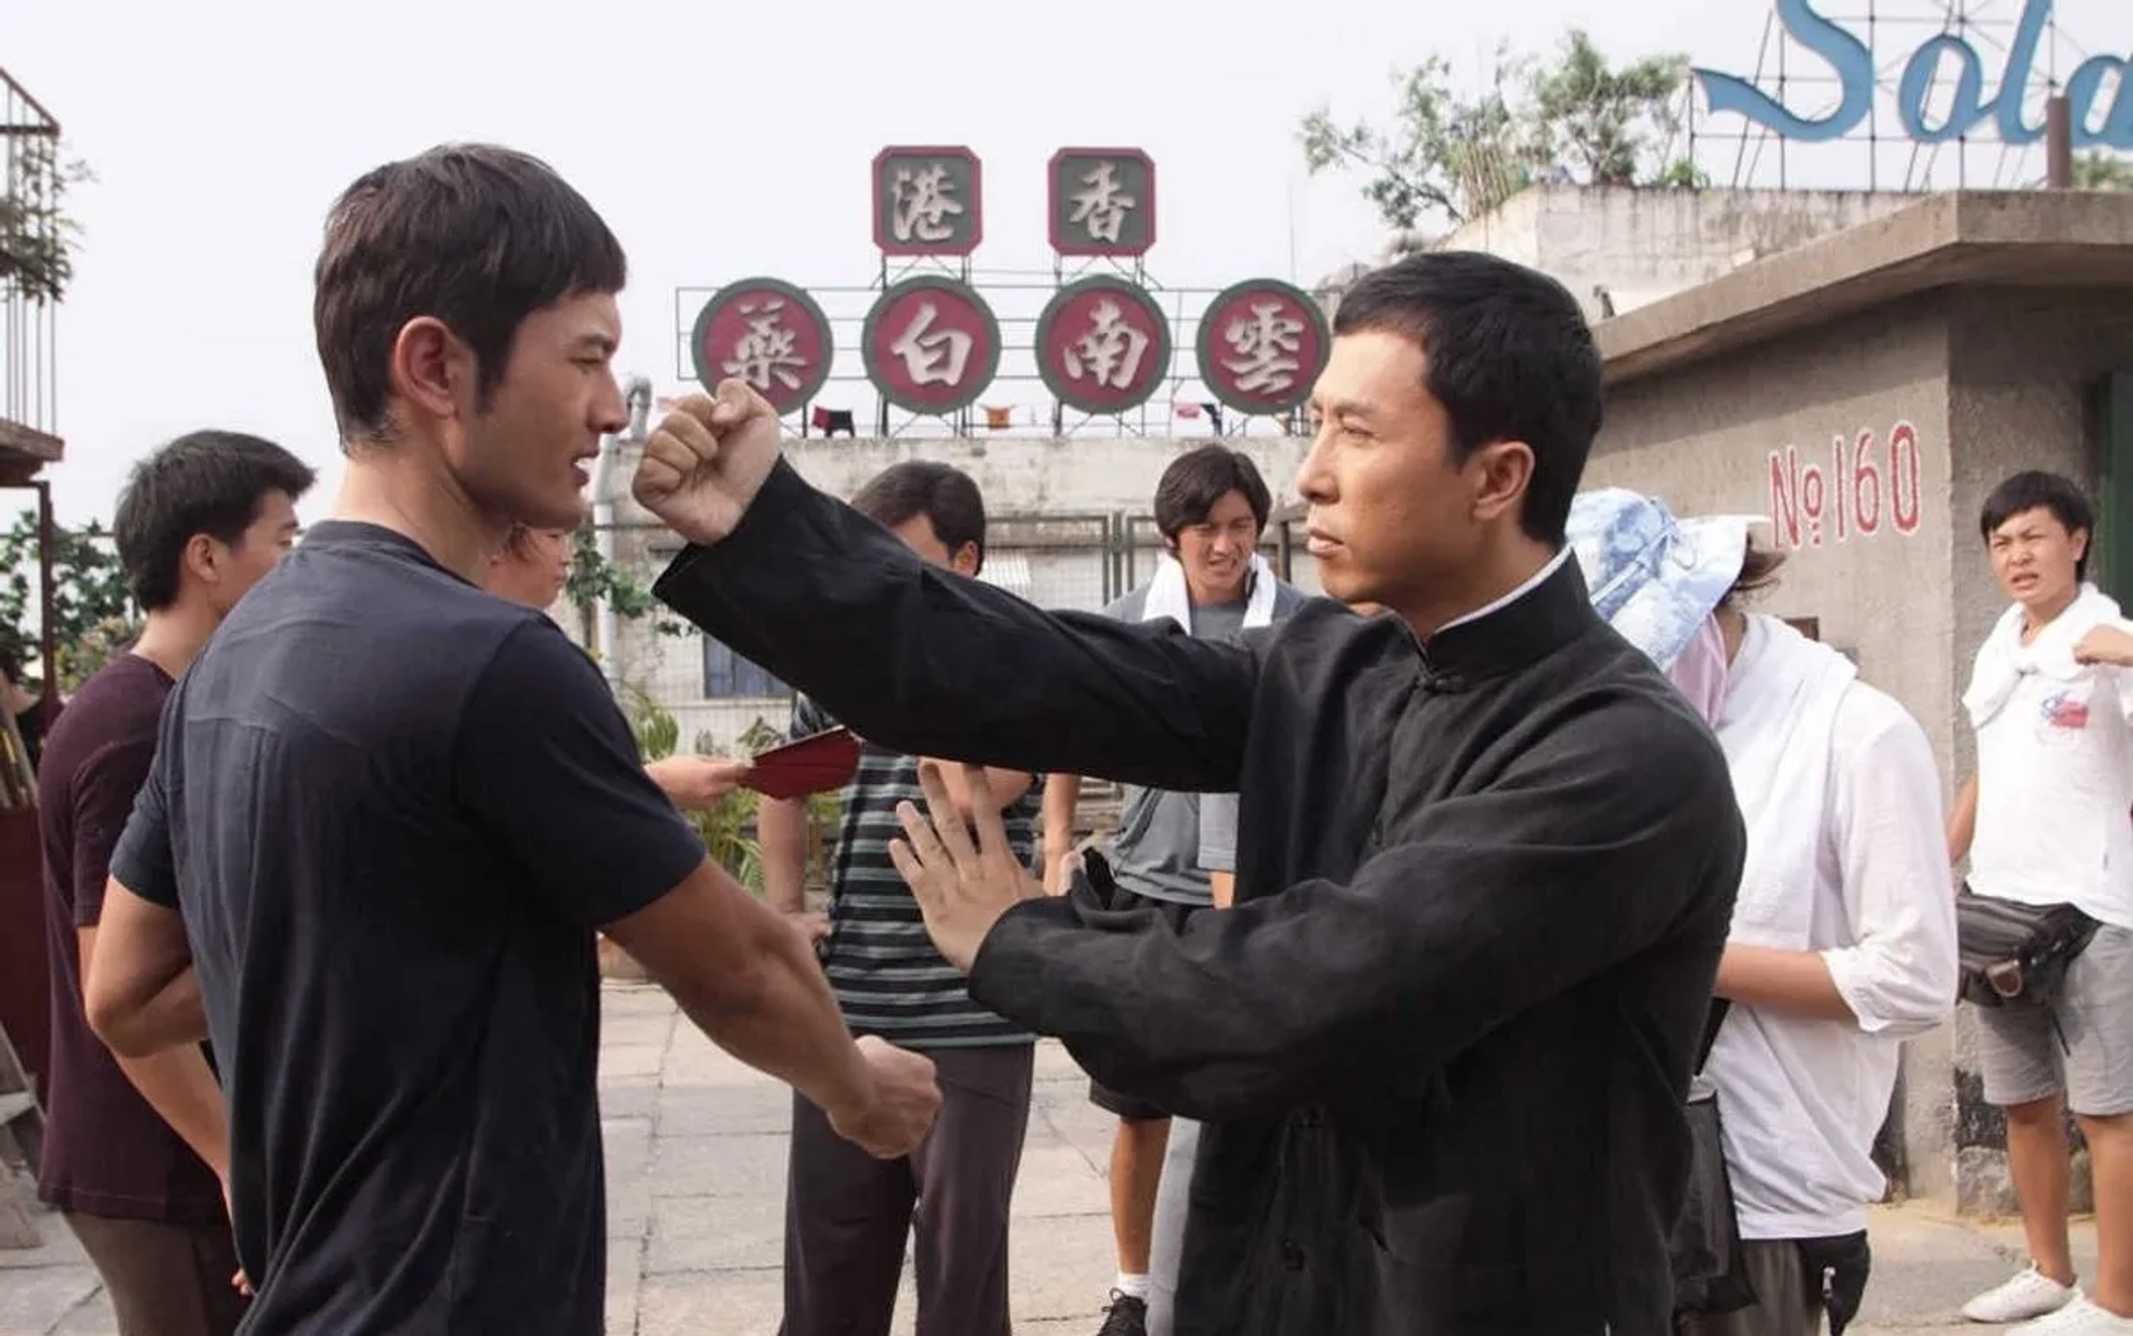
[[[1346,884],[1192,918],[1035,899],[990,931],[971,995],[1066,1040],[1103,1085],[1194,1119],[1414,1080],[1517,1014],[1717,931],[1745,833],[1717,746],[1672,714],[1583,712],[1487,791],[1406,820]]]

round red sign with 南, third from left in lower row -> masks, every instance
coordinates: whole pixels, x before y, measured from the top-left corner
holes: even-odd
[[[1124,279],[1069,283],[1037,317],[1037,371],[1071,409],[1124,413],[1169,379],[1169,320]]]

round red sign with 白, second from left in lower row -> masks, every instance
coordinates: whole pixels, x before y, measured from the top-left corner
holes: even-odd
[[[1000,366],[1000,322],[966,283],[904,279],[875,300],[860,335],[866,377],[911,413],[953,413],[977,403]]]

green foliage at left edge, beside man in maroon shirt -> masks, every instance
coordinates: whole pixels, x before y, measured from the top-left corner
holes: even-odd
[[[51,586],[60,688],[75,690],[139,633],[126,571],[102,524],[53,524]],[[0,535],[0,626],[19,639],[32,661],[43,637],[41,614],[36,511],[26,509]]]

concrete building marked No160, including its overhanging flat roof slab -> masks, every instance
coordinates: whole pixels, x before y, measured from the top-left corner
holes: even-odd
[[[2005,607],[1977,511],[2007,473],[2097,488],[2103,582],[2133,586],[2133,196],[1913,198],[1598,326],[1608,424],[1589,486],[1768,516],[1766,609],[1811,618],[1903,701],[1950,795],[1960,693]],[[2011,1208],[1996,1110],[1958,1025],[1907,1050],[1911,1193]]]

